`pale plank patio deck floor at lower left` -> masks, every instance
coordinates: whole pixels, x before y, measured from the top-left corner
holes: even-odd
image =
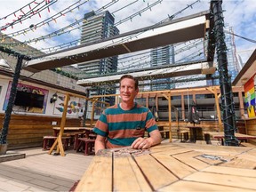
[[[26,158],[0,163],[0,191],[68,191],[93,158],[73,149],[64,157],[48,155],[42,148],[15,151]]]

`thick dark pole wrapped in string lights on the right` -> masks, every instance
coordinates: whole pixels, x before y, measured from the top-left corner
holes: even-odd
[[[228,76],[227,47],[224,35],[224,18],[222,15],[222,0],[212,0],[212,13],[214,19],[214,32],[216,38],[217,61],[220,73],[221,111],[223,112],[224,145],[238,146],[235,137],[236,124],[232,86]]]

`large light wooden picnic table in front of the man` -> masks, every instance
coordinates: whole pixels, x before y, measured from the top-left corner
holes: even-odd
[[[255,166],[256,148],[164,143],[104,149],[75,191],[255,191]]]

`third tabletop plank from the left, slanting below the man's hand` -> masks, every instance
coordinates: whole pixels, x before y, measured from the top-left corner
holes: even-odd
[[[150,180],[154,191],[178,180],[172,172],[165,169],[162,164],[159,164],[153,156],[135,156],[134,159],[147,180]]]

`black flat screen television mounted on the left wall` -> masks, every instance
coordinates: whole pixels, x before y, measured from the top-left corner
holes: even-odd
[[[44,108],[44,95],[17,91],[14,105],[29,108]]]

